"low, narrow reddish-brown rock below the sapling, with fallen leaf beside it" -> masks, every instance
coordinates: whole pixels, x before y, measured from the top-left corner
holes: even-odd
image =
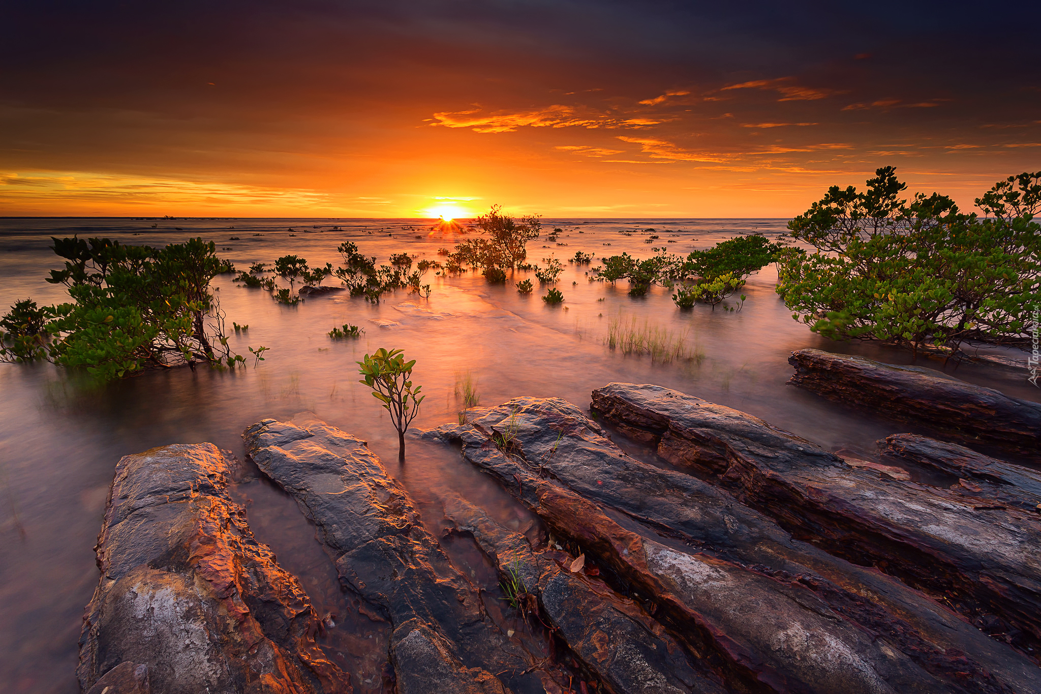
[[[504,581],[519,581],[514,597],[532,618],[558,634],[586,669],[616,694],[722,694],[718,683],[691,667],[683,648],[633,600],[600,579],[567,568],[574,557],[552,548],[534,550],[528,538],[508,531],[478,507],[451,494],[445,515],[473,535]],[[527,606],[528,597],[536,605]]]

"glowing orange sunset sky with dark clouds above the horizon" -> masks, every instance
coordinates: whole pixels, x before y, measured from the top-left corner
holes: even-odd
[[[966,208],[1041,169],[1025,49],[969,17],[57,5],[3,36],[3,215],[790,216],[882,165]]]

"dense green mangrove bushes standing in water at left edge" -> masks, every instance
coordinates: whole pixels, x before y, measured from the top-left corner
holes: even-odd
[[[47,360],[84,368],[100,381],[147,368],[235,365],[224,313],[209,283],[234,267],[212,242],[193,238],[162,249],[107,238],[53,238],[66,260],[47,281],[72,301],[37,307],[18,302],[0,319],[0,360]]]

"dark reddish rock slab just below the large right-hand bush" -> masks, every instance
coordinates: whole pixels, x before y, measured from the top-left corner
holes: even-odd
[[[788,383],[830,400],[871,408],[944,438],[1041,461],[1041,405],[920,366],[894,366],[820,350],[792,352]]]

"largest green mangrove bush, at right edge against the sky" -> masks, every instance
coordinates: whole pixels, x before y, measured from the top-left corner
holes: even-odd
[[[833,186],[788,224],[815,251],[784,252],[778,292],[833,339],[956,353],[965,340],[1025,345],[1041,304],[1041,172],[996,183],[965,214],[939,194],[900,199],[879,169],[858,192]]]

